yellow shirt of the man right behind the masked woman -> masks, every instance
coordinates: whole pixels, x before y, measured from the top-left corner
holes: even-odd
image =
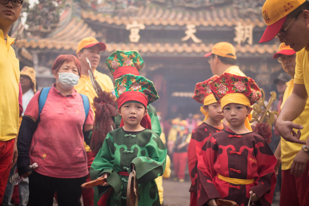
[[[97,70],[94,70],[93,75],[95,76],[95,80],[99,83],[103,91],[107,92],[113,92],[114,93],[114,84],[109,76],[106,74],[102,74],[101,72],[98,72]],[[79,78],[78,84],[74,86],[74,89],[83,95],[86,95],[89,99],[89,103],[92,106],[93,98],[97,97],[97,94],[95,93],[95,89],[93,88],[89,75],[82,75]],[[92,106],[92,111],[94,114],[94,108]],[[86,145],[84,142],[85,149],[87,152],[91,151],[90,147]]]

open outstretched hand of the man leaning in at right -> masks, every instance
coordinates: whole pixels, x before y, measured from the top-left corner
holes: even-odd
[[[298,129],[297,134],[296,132],[294,132],[293,128]],[[303,128],[304,127],[302,125],[295,124],[290,121],[282,121],[282,120],[276,121],[276,129],[284,140],[305,145],[306,142],[299,140],[300,138],[299,129]]]

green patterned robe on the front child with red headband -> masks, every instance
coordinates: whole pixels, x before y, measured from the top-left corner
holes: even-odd
[[[167,149],[158,135],[145,129],[140,132],[127,132],[121,128],[109,132],[90,168],[91,180],[104,172],[110,175],[110,186],[94,187],[96,195],[102,195],[113,187],[107,205],[126,205],[128,176],[118,172],[131,172],[133,163],[139,185],[139,206],[161,205],[155,178],[165,169]]]

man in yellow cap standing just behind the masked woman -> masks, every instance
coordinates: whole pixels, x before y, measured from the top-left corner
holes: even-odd
[[[84,38],[77,45],[76,56],[81,64],[82,75],[79,78],[78,84],[74,86],[74,89],[78,93],[86,95],[89,99],[90,105],[92,105],[93,98],[97,95],[89,78],[88,70],[90,68],[88,62],[86,61],[86,57],[88,57],[91,63],[91,69],[95,76],[95,80],[99,83],[102,90],[114,93],[114,85],[111,78],[108,75],[102,74],[96,70],[100,62],[100,52],[105,49],[106,45],[103,42],[99,42],[94,37]],[[91,163],[95,158],[96,153],[91,151],[90,147],[86,143],[84,143],[84,145],[87,152],[88,170],[90,170]],[[88,175],[86,181],[90,181],[90,175]],[[94,190],[92,188],[83,189],[84,205],[92,206],[94,204],[93,195]]]

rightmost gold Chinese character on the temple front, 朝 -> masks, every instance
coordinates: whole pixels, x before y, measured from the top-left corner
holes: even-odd
[[[253,25],[241,25],[240,23],[235,27],[235,38],[233,39],[237,44],[244,43],[246,40],[248,44],[252,45],[253,40]]]

